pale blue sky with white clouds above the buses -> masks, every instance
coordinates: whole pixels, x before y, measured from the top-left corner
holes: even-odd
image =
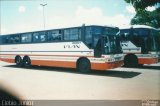
[[[85,25],[129,25],[134,8],[124,0],[0,0],[0,33]]]

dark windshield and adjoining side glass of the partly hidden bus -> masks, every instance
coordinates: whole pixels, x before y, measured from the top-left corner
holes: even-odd
[[[133,36],[130,36],[130,40],[137,47],[141,47],[142,53],[157,51],[158,42],[156,40],[156,33],[153,29],[135,28]]]

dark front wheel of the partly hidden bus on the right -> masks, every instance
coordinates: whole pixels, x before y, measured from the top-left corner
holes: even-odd
[[[138,67],[138,58],[136,55],[128,54],[124,58],[124,66],[129,68]]]

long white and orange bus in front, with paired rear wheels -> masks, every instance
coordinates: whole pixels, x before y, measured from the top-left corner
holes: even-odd
[[[19,67],[53,66],[80,72],[122,66],[117,27],[88,25],[0,36],[0,60]]]

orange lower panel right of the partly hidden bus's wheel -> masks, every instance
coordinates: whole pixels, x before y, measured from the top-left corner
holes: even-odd
[[[138,58],[139,64],[155,64],[158,63],[158,58]]]

